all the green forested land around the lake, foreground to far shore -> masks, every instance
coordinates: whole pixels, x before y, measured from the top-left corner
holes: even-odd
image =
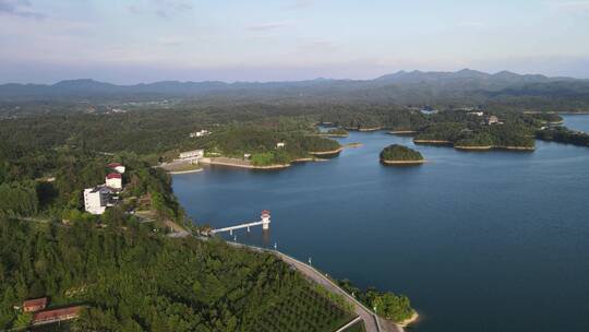
[[[192,223],[170,177],[154,166],[181,151],[252,154],[255,165],[290,163],[340,147],[321,135],[320,122],[411,130],[417,140],[465,146],[533,146],[534,137],[589,143],[587,134],[546,128],[561,120],[556,115],[496,105],[483,117],[449,106],[423,115],[417,106],[368,104],[178,103],[122,114],[43,107],[50,110],[0,119],[0,329],[26,322],[13,306],[41,295],[56,307],[84,305],[73,324],[84,331],[263,331],[261,321],[271,330],[330,331],[350,319],[348,309],[272,256],[217,240],[167,238],[167,222]],[[488,124],[491,115],[503,124]],[[211,134],[190,137],[201,129]],[[119,204],[101,216],[84,213],[84,188],[103,183],[112,162],[127,166]],[[378,313],[398,321],[412,312],[406,297],[374,292],[363,300],[376,304]],[[300,316],[306,319],[294,319]]]

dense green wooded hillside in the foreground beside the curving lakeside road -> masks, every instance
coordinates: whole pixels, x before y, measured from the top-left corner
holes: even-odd
[[[263,331],[261,322],[333,331],[351,319],[272,254],[170,240],[118,213],[106,218],[108,227],[1,218],[0,329],[19,323],[14,305],[39,296],[85,306],[76,331]]]

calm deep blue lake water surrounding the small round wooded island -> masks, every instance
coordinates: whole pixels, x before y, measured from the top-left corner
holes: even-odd
[[[589,132],[589,116],[564,118]],[[269,234],[237,241],[407,295],[421,316],[411,331],[589,331],[589,147],[461,152],[383,131],[339,141],[363,146],[279,171],[177,175],[173,191],[213,227],[271,210]],[[381,165],[392,143],[429,163]]]

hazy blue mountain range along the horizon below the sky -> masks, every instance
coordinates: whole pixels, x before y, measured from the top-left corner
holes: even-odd
[[[0,100],[229,98],[240,100],[356,100],[374,103],[481,102],[508,97],[589,98],[589,80],[539,74],[399,71],[374,80],[316,79],[293,82],[179,82],[116,85],[94,80],[56,84],[2,84]]]

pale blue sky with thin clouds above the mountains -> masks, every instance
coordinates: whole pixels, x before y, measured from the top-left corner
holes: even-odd
[[[0,0],[0,83],[589,78],[589,0]]]

